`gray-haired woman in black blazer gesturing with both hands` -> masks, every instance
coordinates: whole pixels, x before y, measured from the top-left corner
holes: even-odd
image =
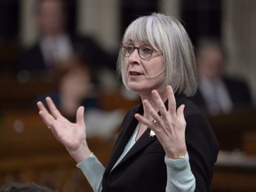
[[[180,22],[157,13],[134,20],[124,33],[117,67],[126,88],[138,92],[142,103],[124,117],[106,169],[86,143],[83,107],[71,124],[50,98],[50,113],[37,104],[93,190],[208,191],[219,146],[188,100],[196,92],[196,62]]]

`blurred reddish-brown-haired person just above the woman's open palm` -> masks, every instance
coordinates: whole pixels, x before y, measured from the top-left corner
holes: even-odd
[[[66,60],[57,63],[52,71],[54,90],[40,95],[51,96],[61,113],[69,119],[76,117],[80,105],[88,108],[101,108],[99,92],[92,82],[90,64],[77,55],[69,55]]]

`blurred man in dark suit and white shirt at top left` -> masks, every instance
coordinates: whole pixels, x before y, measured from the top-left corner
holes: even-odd
[[[92,37],[68,33],[68,12],[65,1],[36,0],[36,22],[39,38],[23,50],[15,70],[29,75],[51,74],[52,69],[73,53],[82,55],[93,68],[115,69],[115,57],[101,49]]]

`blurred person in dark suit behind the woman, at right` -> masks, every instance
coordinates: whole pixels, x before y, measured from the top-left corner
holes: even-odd
[[[243,79],[227,75],[227,54],[217,38],[204,37],[196,49],[198,89],[191,98],[205,113],[228,114],[252,108],[252,96]]]

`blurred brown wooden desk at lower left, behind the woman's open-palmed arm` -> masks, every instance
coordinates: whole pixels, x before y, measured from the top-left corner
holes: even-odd
[[[37,111],[8,111],[0,127],[0,186],[36,182],[60,192],[92,191],[68,151],[45,127]],[[93,138],[88,145],[106,165],[114,140]]]

